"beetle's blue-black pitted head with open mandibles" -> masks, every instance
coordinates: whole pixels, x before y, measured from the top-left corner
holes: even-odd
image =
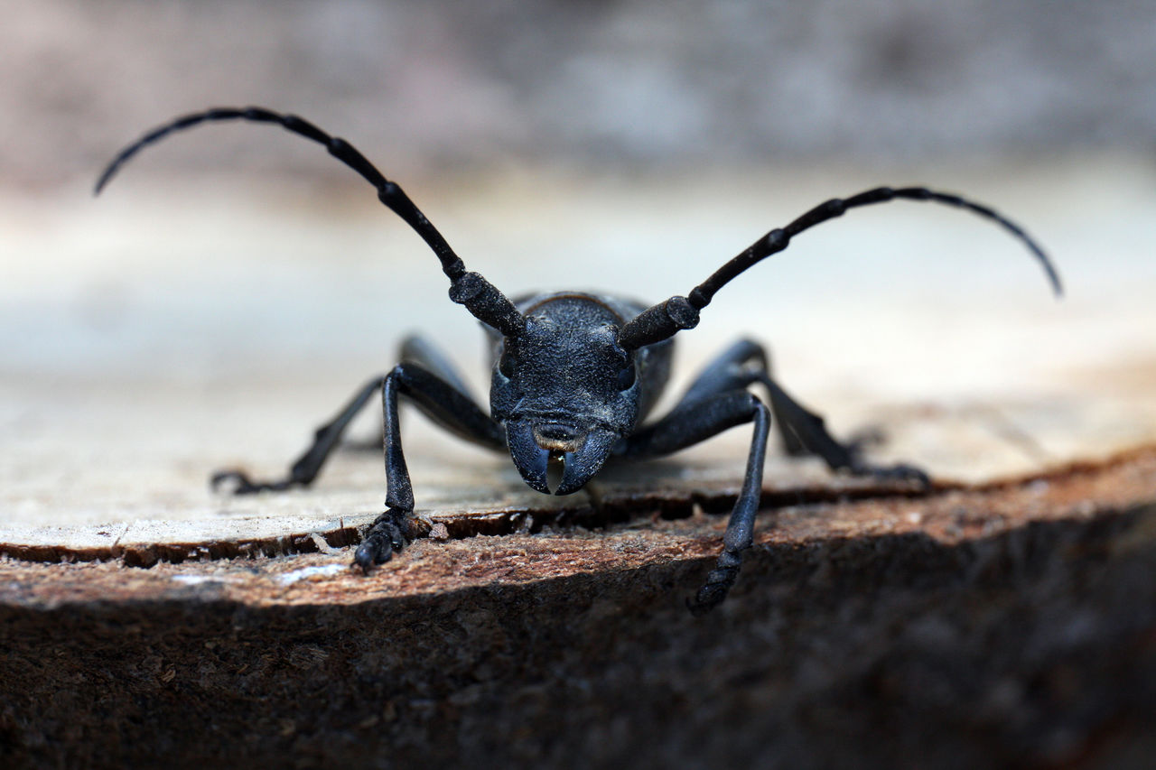
[[[550,311],[528,314],[524,331],[499,343],[490,407],[505,422],[526,483],[549,493],[550,464],[561,464],[554,494],[568,495],[633,429],[639,387],[633,356],[616,342],[613,314],[577,298],[554,301]]]

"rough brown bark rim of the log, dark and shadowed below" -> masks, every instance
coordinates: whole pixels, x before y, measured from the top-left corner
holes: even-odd
[[[0,562],[5,764],[1148,767],[1156,450],[349,554]],[[621,765],[620,765],[621,767]]]

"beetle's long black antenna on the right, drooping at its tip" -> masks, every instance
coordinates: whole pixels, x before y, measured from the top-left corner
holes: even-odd
[[[996,222],[1028,246],[1028,250],[1031,251],[1032,256],[1043,266],[1055,295],[1060,296],[1064,294],[1060,276],[1055,272],[1052,261],[1047,258],[1047,254],[1039,247],[1039,244],[1032,240],[1024,232],[1023,228],[994,209],[961,198],[959,195],[935,192],[926,187],[875,187],[847,199],[832,198],[810,209],[785,228],[771,230],[753,243],[741,254],[717,269],[709,279],[695,287],[688,296],[670,297],[666,302],[653,305],[635,317],[618,331],[618,345],[623,349],[633,350],[660,342],[684,328],[694,328],[698,325],[698,311],[710,304],[719,289],[733,281],[747,268],[786,249],[794,236],[816,224],[822,224],[828,220],[840,216],[847,209],[859,206],[870,206],[872,203],[885,203],[897,198],[934,201],[936,203],[965,208],[969,212]]]

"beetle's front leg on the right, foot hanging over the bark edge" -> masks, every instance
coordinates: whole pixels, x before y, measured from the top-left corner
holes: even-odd
[[[754,423],[754,431],[742,489],[731,511],[718,563],[706,576],[706,582],[695,599],[688,602],[695,615],[711,610],[726,599],[739,577],[742,551],[750,548],[753,542],[755,514],[758,513],[763,491],[763,462],[766,459],[766,437],[771,427],[770,409],[746,391],[720,393],[696,399],[694,408],[672,412],[650,428],[631,436],[627,443],[627,457],[659,457],[746,422]]]

